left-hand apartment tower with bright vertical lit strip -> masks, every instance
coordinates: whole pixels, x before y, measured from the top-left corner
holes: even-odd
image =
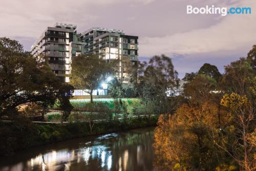
[[[31,47],[34,56],[44,54],[52,71],[62,82],[69,82],[72,56],[84,53],[84,43],[78,41],[76,25],[56,23],[47,27]]]

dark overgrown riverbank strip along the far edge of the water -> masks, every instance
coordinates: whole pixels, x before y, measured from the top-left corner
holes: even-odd
[[[0,121],[0,155],[13,155],[21,149],[72,138],[155,126],[157,120],[157,116],[152,116],[151,119],[130,118],[95,122],[91,125],[88,122],[35,124],[25,118],[11,123]]]

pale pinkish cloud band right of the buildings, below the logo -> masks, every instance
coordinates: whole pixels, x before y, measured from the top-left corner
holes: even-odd
[[[233,4],[238,7],[256,9],[255,2],[243,1]],[[227,15],[219,23],[207,28],[190,30],[163,37],[143,37],[140,39],[140,55],[154,54],[196,54],[223,50],[236,50],[255,44],[255,14]],[[187,16],[188,19],[189,16]]]

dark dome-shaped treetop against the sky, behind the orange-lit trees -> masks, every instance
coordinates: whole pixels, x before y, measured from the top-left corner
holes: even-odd
[[[209,63],[204,63],[204,65],[198,71],[198,74],[205,74],[211,78],[214,78],[217,82],[221,77],[221,73],[219,72],[216,66],[210,65]]]

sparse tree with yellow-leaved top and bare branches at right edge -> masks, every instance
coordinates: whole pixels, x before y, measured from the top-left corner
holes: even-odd
[[[255,103],[249,101],[245,95],[231,93],[223,96],[221,104],[231,113],[232,126],[215,144],[227,152],[241,170],[255,170]]]

